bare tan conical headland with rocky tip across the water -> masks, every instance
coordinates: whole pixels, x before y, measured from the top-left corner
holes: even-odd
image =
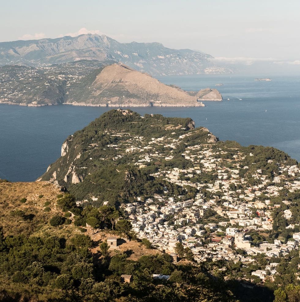
[[[106,66],[96,75],[91,85],[73,90],[67,104],[109,107],[196,107],[203,106],[196,95],[160,83],[148,74],[138,72],[124,64]],[[217,99],[217,90],[206,92],[207,98]],[[201,98],[202,100],[202,98]],[[203,98],[204,100],[204,98]]]

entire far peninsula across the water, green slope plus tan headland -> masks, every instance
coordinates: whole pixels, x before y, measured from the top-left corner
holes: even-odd
[[[222,100],[222,96],[209,89],[196,96],[123,64],[103,66],[82,60],[38,68],[0,67],[0,103],[6,104],[184,107],[202,106],[202,100]]]

